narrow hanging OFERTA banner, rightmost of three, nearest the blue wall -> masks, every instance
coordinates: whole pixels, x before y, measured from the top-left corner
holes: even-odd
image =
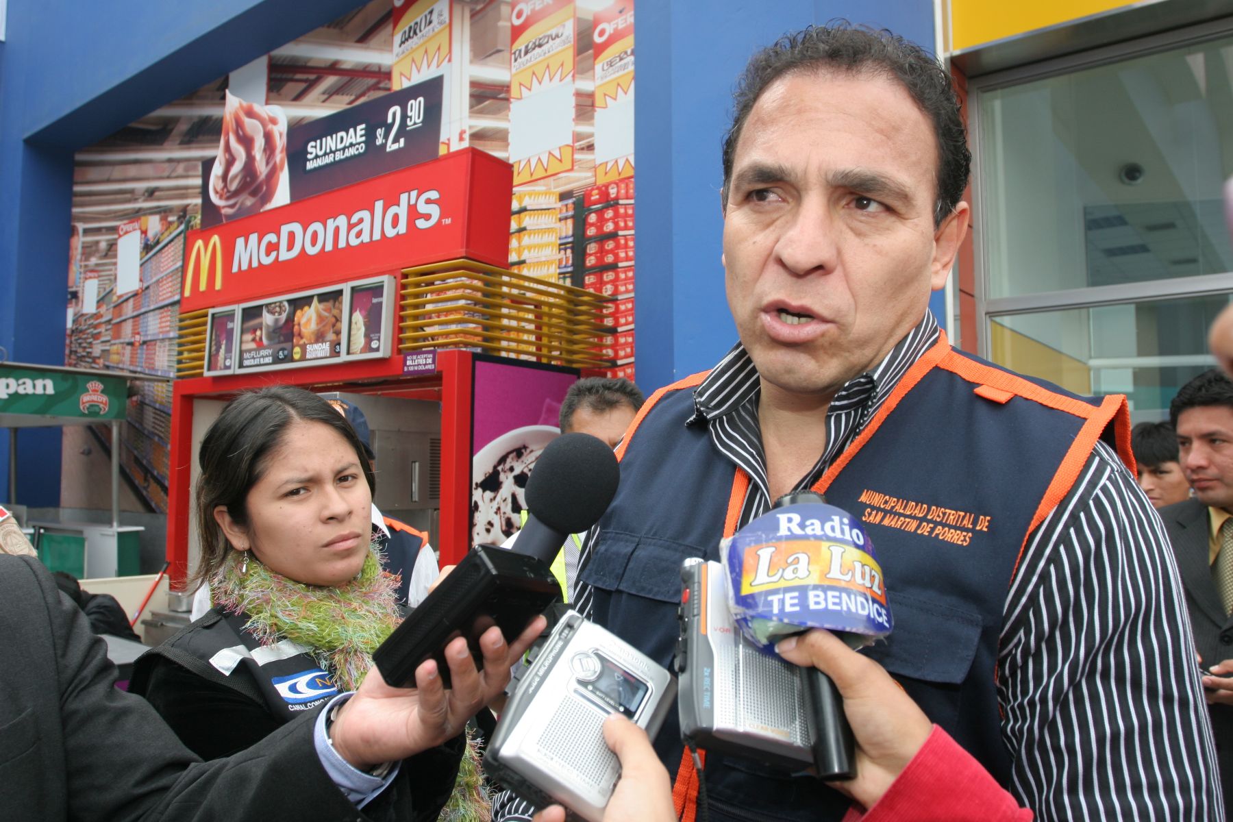
[[[596,54],[596,184],[634,176],[634,0],[592,21]]]

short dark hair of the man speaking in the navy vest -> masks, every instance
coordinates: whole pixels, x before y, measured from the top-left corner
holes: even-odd
[[[941,226],[963,197],[972,165],[951,75],[920,46],[887,30],[853,26],[846,20],[785,35],[756,53],[745,67],[732,95],[732,124],[724,137],[724,206],[727,206],[736,143],[753,104],[767,86],[785,74],[819,70],[870,71],[898,80],[933,122],[938,153],[933,224]]]

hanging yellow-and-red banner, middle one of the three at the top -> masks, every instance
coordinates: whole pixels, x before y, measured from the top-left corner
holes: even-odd
[[[575,7],[523,0],[509,25],[509,161],[517,186],[573,168]]]

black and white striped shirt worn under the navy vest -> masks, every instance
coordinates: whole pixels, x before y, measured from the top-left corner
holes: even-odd
[[[843,452],[938,339],[931,314],[835,396],[826,451],[798,488]],[[760,382],[737,344],[694,389],[689,425],[750,476],[740,525],[771,507]],[[597,531],[582,548],[586,567]],[[589,614],[592,590],[576,604]],[[1012,792],[1037,820],[1221,820],[1216,752],[1190,617],[1159,516],[1104,444],[1036,529],[1007,592],[997,695]],[[1233,744],[1228,741],[1227,744]],[[529,818],[502,796],[494,818]]]

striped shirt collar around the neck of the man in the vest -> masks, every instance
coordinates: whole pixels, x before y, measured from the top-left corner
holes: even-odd
[[[940,328],[931,312],[875,367],[843,383],[834,403],[879,401],[889,394],[916,360],[937,343]],[[761,383],[745,346],[737,343],[694,388],[694,414],[687,425],[723,417],[757,397]],[[834,404],[832,403],[832,404]]]

